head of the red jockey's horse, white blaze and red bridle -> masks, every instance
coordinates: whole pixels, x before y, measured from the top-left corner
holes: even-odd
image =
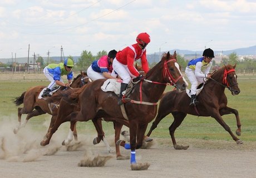
[[[170,52],[164,53],[161,62],[164,63],[163,76],[165,81],[173,85],[179,91],[185,91],[188,82],[181,74],[180,66],[177,62],[176,51],[173,55],[170,55]]]

